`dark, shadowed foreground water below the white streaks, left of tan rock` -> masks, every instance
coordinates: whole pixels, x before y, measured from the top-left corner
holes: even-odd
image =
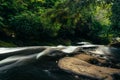
[[[0,72],[0,80],[93,80],[64,72],[56,62],[56,58],[43,57],[35,63]]]

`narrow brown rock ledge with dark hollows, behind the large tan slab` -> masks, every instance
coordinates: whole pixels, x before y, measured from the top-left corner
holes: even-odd
[[[86,61],[90,64],[120,69],[120,65],[119,65],[120,63],[118,63],[116,61],[112,62],[111,60],[106,60],[106,59],[103,59],[100,57],[91,56],[91,55],[85,54],[85,53],[77,54],[74,57],[77,59]]]

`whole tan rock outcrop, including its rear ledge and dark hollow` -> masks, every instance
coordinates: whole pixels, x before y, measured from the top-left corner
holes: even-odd
[[[86,76],[89,79],[119,80],[120,69],[104,67],[105,64],[107,62],[103,59],[80,54],[74,57],[62,58],[59,60],[58,66],[66,72]],[[114,75],[117,75],[118,78]]]

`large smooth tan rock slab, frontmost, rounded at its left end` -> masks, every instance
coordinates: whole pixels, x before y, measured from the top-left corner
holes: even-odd
[[[66,72],[75,73],[97,80],[114,80],[113,75],[120,74],[120,69],[92,65],[74,57],[62,58],[59,60],[58,66]]]

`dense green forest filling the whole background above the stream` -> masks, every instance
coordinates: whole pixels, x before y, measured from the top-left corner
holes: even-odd
[[[120,0],[0,0],[0,46],[108,44],[120,36]]]

